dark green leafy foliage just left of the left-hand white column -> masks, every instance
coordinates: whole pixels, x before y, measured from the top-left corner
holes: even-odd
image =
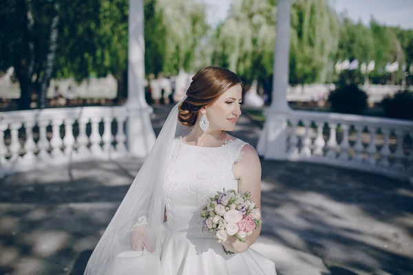
[[[56,78],[120,78],[127,68],[128,0],[62,1]]]

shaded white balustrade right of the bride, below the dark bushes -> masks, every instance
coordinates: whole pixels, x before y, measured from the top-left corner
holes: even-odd
[[[288,120],[291,124],[287,150],[289,160],[413,179],[411,121],[314,111],[292,111]],[[316,129],[312,128],[313,124]],[[323,136],[324,124],[330,128],[327,142]],[[342,137],[341,142],[337,141],[337,136]]]

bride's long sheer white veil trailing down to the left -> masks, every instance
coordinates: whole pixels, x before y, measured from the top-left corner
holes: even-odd
[[[184,96],[182,102],[187,96]],[[147,239],[160,257],[165,211],[164,182],[173,150],[173,140],[189,128],[178,123],[178,102],[162,126],[153,148],[136,175],[125,198],[96,245],[85,275],[103,274],[116,255],[130,250],[131,228],[139,217],[147,217]]]

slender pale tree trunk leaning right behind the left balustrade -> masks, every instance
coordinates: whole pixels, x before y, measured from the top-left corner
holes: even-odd
[[[53,17],[52,26],[50,28],[50,46],[49,46],[49,53],[46,57],[46,66],[45,66],[45,76],[43,77],[40,85],[39,91],[39,108],[44,109],[46,107],[46,92],[47,87],[50,83],[50,78],[52,77],[53,72],[53,62],[54,56],[56,53],[56,46],[57,46],[57,36],[59,34],[57,30],[57,25],[59,23],[59,1],[54,3],[54,12],[56,14]]]

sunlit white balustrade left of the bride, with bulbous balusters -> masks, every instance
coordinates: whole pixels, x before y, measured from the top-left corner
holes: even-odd
[[[0,113],[0,178],[19,171],[128,155],[123,129],[126,120],[125,107]],[[116,136],[112,134],[114,121],[118,126]],[[103,122],[103,135],[99,132],[100,122]],[[89,125],[92,131],[88,136]],[[114,141],[116,147],[112,145]]]

